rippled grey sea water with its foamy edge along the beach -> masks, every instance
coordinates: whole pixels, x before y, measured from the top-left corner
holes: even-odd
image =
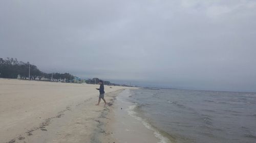
[[[136,89],[123,100],[159,142],[256,142],[256,93]]]

